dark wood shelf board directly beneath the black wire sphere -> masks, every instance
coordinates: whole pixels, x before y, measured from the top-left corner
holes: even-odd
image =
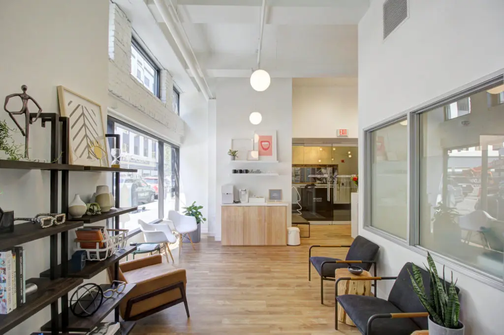
[[[100,285],[103,291],[110,288],[110,284],[102,284]],[[79,317],[75,316],[71,311],[69,312],[69,322],[68,322],[68,331],[90,331],[93,329],[98,323],[100,323],[105,316],[107,316],[115,307],[117,307],[122,298],[124,298],[134,287],[136,284],[127,284],[126,288],[122,293],[117,294],[114,293],[114,298],[103,299],[103,303],[98,308],[98,310],[89,317]],[[79,308],[76,309],[79,311]],[[61,314],[58,315],[58,325],[61,327]],[[51,321],[44,324],[40,327],[42,331],[51,330]]]

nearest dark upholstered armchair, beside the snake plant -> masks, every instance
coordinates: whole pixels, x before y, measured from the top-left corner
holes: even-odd
[[[427,329],[428,313],[413,291],[408,270],[412,271],[411,263],[406,263],[397,277],[338,278],[334,309],[335,329],[338,329],[338,302],[364,335],[410,335],[416,330]],[[425,290],[429,292],[429,273],[421,268],[420,272]],[[340,280],[395,280],[395,283],[388,300],[385,300],[375,296],[338,296]]]

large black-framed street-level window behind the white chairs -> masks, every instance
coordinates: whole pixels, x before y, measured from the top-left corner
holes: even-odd
[[[120,174],[120,206],[138,206],[138,211],[120,217],[120,227],[134,230],[139,220],[155,222],[166,217],[168,210],[178,210],[178,147],[110,117],[108,132],[120,136],[121,167],[138,170]],[[125,146],[124,138],[130,134],[134,145]],[[164,152],[163,159],[159,150]]]

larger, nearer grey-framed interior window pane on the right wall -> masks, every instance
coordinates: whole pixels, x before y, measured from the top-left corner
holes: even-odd
[[[485,88],[419,116],[419,244],[497,276],[504,275],[502,92]]]

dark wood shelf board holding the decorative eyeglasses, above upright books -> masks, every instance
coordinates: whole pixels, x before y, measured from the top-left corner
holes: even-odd
[[[79,228],[83,225],[83,221],[67,221],[57,226],[53,225],[48,228],[42,228],[36,223],[19,223],[14,225],[14,232],[0,234],[0,249],[8,249],[22,243]]]

